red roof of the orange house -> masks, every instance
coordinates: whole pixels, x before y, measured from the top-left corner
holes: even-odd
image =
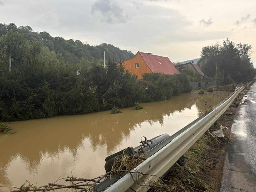
[[[146,62],[147,66],[152,72],[157,72],[161,74],[173,75],[179,74],[180,72],[175,68],[168,57],[162,57],[157,55],[152,55],[148,53],[143,53],[138,51],[143,60]]]

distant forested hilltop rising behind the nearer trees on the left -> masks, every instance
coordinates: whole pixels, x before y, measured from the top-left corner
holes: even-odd
[[[92,46],[83,44],[80,40],[74,41],[73,39],[65,40],[62,37],[52,37],[48,32],[34,32],[30,26],[17,27],[15,24],[0,23],[0,37],[11,30],[19,34],[20,40],[23,38],[29,42],[38,41],[48,47],[50,51],[61,54],[66,61],[71,63],[79,62],[81,59],[100,61],[102,63],[104,51],[106,59],[113,57],[118,61],[124,61],[134,56],[131,51],[120,50],[118,47],[106,43]]]

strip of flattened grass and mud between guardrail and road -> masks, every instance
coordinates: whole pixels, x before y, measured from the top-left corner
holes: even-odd
[[[222,171],[227,152],[227,144],[232,140],[231,126],[241,99],[247,93],[244,90],[227,111],[211,126],[185,154],[186,165],[175,165],[170,173],[150,191],[209,191],[218,192],[221,187]],[[224,129],[225,139],[213,137],[211,132]]]

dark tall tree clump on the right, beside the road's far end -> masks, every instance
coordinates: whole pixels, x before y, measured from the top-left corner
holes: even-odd
[[[226,39],[222,45],[204,47],[198,64],[206,76],[220,83],[245,82],[255,76],[250,53],[251,45],[235,44]]]

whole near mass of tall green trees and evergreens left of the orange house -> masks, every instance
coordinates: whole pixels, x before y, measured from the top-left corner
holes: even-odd
[[[130,107],[136,101],[160,101],[190,91],[183,74],[144,74],[142,80],[137,80],[115,59],[109,58],[106,68],[84,56],[71,62],[56,47],[51,51],[42,39],[37,39],[37,33],[26,36],[28,33],[15,30],[7,29],[0,37],[2,121]]]

